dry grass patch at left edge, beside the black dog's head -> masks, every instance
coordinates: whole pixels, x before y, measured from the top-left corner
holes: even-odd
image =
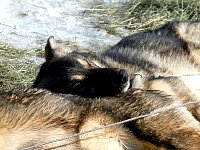
[[[32,60],[37,50],[25,51],[0,44],[0,89],[26,88],[33,83],[39,64]]]

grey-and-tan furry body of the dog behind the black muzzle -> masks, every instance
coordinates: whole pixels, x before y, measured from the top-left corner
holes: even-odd
[[[198,21],[169,22],[158,29],[129,36],[106,50],[103,57],[112,67],[123,68],[130,74],[141,73],[139,88],[164,91],[182,103],[200,100],[200,74],[165,78],[200,73]],[[148,75],[164,78],[149,80]],[[191,107],[188,109],[200,121],[199,107]]]

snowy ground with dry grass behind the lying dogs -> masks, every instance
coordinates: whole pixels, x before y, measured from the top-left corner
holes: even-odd
[[[199,0],[0,2],[0,89],[30,87],[54,35],[69,49],[101,51],[171,20],[198,20]]]

